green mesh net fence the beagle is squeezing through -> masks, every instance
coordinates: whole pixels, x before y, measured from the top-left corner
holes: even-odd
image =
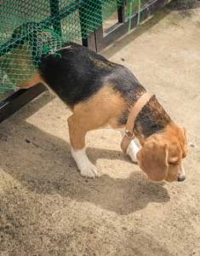
[[[29,79],[43,54],[80,43],[124,0],[0,0],[0,95]],[[146,1],[129,0],[127,16]]]

